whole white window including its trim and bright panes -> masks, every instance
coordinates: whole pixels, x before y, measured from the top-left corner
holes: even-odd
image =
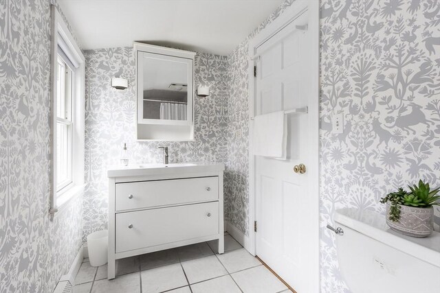
[[[85,59],[52,5],[50,218],[84,189]]]

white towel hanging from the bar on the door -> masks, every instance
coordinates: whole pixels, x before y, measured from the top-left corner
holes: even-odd
[[[254,117],[254,154],[285,160],[287,119],[284,111]]]

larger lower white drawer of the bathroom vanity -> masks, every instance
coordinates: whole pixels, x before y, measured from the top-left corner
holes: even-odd
[[[219,202],[117,213],[115,217],[116,253],[219,233]]]

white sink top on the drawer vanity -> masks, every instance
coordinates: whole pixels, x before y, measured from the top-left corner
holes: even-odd
[[[193,172],[223,171],[221,163],[170,163],[170,164],[131,164],[115,165],[107,168],[108,177],[142,176],[151,174],[179,174]]]

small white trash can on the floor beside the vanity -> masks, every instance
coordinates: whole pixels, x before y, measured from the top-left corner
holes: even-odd
[[[87,249],[91,266],[102,266],[107,263],[109,231],[102,230],[87,236]]]

